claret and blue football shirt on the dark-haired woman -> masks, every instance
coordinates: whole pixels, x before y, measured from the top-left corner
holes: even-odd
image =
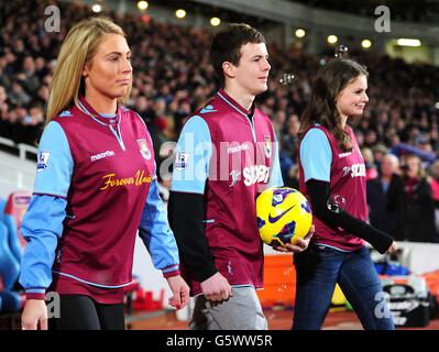
[[[367,219],[365,194],[365,166],[355,135],[347,128],[352,151],[343,152],[337,139],[322,125],[315,124],[305,132],[299,146],[299,190],[309,199],[306,183],[310,179],[330,184],[331,197],[344,211],[356,219]],[[315,217],[315,243],[341,251],[354,251],[364,245],[364,241],[352,233],[327,226]]]

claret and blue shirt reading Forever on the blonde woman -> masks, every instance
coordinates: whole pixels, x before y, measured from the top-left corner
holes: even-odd
[[[22,221],[21,285],[120,302],[131,282],[135,233],[165,276],[179,273],[143,120],[119,107],[100,116],[83,98],[51,121],[37,156],[34,197]],[[108,290],[113,288],[114,290]]]

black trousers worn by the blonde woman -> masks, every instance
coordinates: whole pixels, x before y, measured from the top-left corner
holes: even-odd
[[[84,295],[61,295],[61,318],[50,318],[50,330],[123,330],[123,304],[103,305]]]

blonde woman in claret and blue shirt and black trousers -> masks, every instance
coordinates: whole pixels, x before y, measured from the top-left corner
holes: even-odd
[[[21,228],[29,242],[20,277],[23,329],[47,329],[46,292],[61,297],[51,329],[123,329],[138,229],[173,292],[169,304],[188,301],[150,134],[122,105],[130,61],[122,29],[103,18],[76,24],[61,48]]]

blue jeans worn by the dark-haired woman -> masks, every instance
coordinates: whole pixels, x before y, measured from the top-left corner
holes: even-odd
[[[319,330],[328,314],[336,283],[365,330],[394,330],[383,287],[366,248],[341,252],[311,244],[294,254],[296,302],[293,329]]]

